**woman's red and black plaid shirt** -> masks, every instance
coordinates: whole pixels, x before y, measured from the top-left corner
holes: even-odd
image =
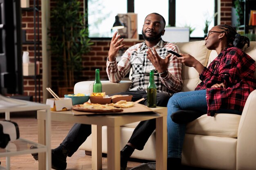
[[[214,116],[220,108],[243,111],[247,97],[256,89],[254,71],[255,61],[241,49],[224,49],[204,68],[202,82],[195,88],[206,89],[207,115]],[[224,83],[226,88],[211,88],[217,83]]]

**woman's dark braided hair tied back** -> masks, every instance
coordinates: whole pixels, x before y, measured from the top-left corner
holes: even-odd
[[[250,46],[249,38],[237,33],[234,27],[227,24],[222,24],[218,26],[227,36],[228,47],[238,47],[239,49],[242,49],[245,44],[247,44],[247,47]]]

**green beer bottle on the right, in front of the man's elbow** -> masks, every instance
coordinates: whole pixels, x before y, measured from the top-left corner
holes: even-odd
[[[148,95],[148,107],[155,108],[157,107],[157,86],[155,85],[154,80],[154,71],[151,70],[149,73],[149,83],[147,88],[147,95]]]

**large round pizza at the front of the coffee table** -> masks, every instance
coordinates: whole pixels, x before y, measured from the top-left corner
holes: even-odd
[[[108,104],[93,104],[85,102],[84,104],[77,104],[72,107],[74,110],[84,112],[97,112],[97,113],[110,113],[110,112],[122,112],[123,109],[110,106]]]

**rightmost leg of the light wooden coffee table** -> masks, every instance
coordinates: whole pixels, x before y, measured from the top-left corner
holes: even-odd
[[[167,170],[167,117],[156,119],[156,170]]]

